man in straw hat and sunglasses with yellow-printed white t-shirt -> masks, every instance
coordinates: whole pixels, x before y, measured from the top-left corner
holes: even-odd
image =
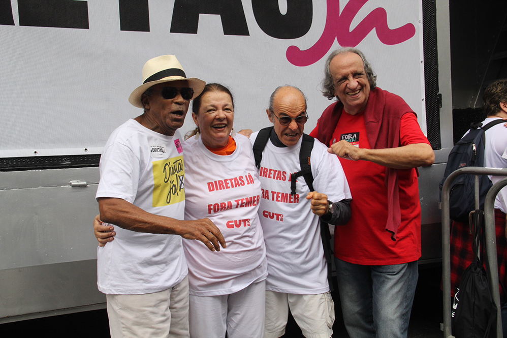
[[[152,58],[129,102],[143,114],[109,137],[100,162],[100,219],[116,238],[98,249],[111,337],[188,337],[188,280],[182,239],[211,251],[225,240],[209,220],[183,221],[183,149],[177,131],[205,82],[187,78],[174,55]]]

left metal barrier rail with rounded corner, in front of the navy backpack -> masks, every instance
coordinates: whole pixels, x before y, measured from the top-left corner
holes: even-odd
[[[492,175],[507,176],[507,168],[482,168],[466,167],[452,172],[443,183],[442,187],[442,297],[443,297],[443,336],[444,338],[454,338],[451,334],[451,231],[449,216],[449,193],[453,181],[459,175]],[[495,195],[496,196],[496,195]],[[487,245],[490,247],[490,245]],[[496,257],[496,246],[495,257]],[[489,256],[488,256],[489,258]],[[494,265],[498,270],[496,258]],[[490,269],[491,270],[491,269]],[[497,276],[498,279],[498,276]],[[498,287],[498,286],[497,286]],[[500,314],[499,314],[500,316]],[[501,323],[500,323],[501,325]]]

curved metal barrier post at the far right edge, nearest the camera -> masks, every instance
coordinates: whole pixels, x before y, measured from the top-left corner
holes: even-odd
[[[496,336],[503,337],[502,318],[500,309],[500,288],[498,286],[498,264],[496,254],[496,231],[495,231],[495,198],[498,192],[507,186],[507,178],[496,182],[488,191],[484,201],[484,228],[486,235],[486,254],[489,262],[489,282],[493,293],[498,315],[496,316]],[[494,264],[491,264],[494,262]]]

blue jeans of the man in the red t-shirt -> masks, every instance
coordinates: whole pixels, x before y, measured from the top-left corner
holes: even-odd
[[[417,261],[358,265],[334,260],[348,335],[406,338],[419,276]]]

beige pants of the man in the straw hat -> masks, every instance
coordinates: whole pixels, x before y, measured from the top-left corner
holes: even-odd
[[[106,295],[111,338],[188,338],[188,278],[142,295]]]

